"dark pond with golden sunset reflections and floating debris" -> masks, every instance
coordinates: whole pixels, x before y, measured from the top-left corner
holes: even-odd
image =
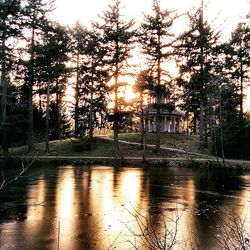
[[[248,214],[240,171],[32,167],[0,191],[0,249],[223,249]]]

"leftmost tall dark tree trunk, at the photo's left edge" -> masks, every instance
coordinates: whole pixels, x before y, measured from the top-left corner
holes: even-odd
[[[1,65],[1,88],[2,88],[2,100],[1,100],[1,128],[2,128],[2,150],[3,154],[8,154],[8,134],[7,134],[7,124],[6,124],[6,106],[7,106],[7,91],[8,83],[6,79],[6,63],[5,63],[5,30],[2,33],[2,65]]]

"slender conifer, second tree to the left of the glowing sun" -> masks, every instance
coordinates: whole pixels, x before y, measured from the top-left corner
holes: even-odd
[[[81,80],[79,89],[79,117],[85,124],[85,131],[93,140],[94,128],[104,125],[107,113],[107,80],[109,74],[103,58],[106,48],[103,46],[103,38],[97,31],[85,33],[85,46],[81,51],[84,59],[79,67],[79,78]]]

